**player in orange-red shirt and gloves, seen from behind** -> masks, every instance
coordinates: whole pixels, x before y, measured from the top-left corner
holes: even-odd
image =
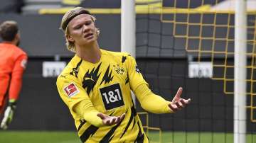
[[[15,21],[4,21],[0,25],[0,115],[4,113],[0,127],[7,129],[14,115],[16,101],[21,91],[23,71],[27,55],[18,47],[20,35]],[[9,87],[9,103],[4,111]]]

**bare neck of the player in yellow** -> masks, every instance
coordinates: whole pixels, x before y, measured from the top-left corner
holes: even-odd
[[[80,57],[81,59],[91,62],[91,63],[97,63],[100,61],[101,52],[100,47],[97,44],[97,42],[93,42],[92,45],[86,45],[86,46],[76,46],[76,55]]]

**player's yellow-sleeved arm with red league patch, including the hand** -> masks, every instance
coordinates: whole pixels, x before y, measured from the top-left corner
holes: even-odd
[[[68,105],[70,112],[79,115],[80,118],[85,119],[90,124],[96,127],[114,125],[124,118],[124,115],[108,116],[96,110],[85,89],[82,88],[77,79],[59,76],[56,84],[60,97]]]

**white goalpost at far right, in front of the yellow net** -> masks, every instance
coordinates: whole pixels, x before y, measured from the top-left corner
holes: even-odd
[[[246,1],[235,1],[234,142],[246,142]]]

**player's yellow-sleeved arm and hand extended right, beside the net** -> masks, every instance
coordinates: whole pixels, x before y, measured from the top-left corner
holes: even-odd
[[[154,94],[140,73],[136,60],[131,56],[128,59],[129,84],[144,110],[151,113],[174,113],[176,110],[181,110],[190,103],[190,98],[181,98],[182,88],[178,89],[172,101],[166,101],[161,96]]]

